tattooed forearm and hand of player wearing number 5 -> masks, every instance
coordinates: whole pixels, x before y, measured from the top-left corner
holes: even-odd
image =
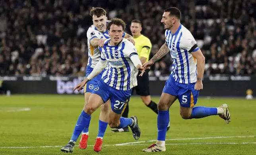
[[[167,53],[169,53],[169,49],[167,46],[167,43],[163,44],[162,47],[159,49],[159,51],[153,56],[152,59],[150,59],[148,62],[145,62],[142,67],[145,69],[149,69],[150,66],[152,66],[156,61],[164,57]]]

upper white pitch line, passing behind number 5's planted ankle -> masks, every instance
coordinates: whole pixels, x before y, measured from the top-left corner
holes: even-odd
[[[247,138],[247,137],[255,137],[255,136],[228,136],[228,137],[201,137],[201,138],[176,138],[176,139],[167,139],[167,140],[202,140],[202,139],[218,139],[218,138]],[[165,141],[167,141],[165,140]],[[138,144],[138,143],[145,143],[145,142],[155,142],[156,140],[148,140],[148,141],[140,141],[140,142],[129,142],[129,143],[122,143],[116,144],[116,146],[123,146],[128,144]]]

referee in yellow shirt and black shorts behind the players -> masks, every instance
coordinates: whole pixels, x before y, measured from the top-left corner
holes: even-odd
[[[140,61],[142,64],[147,62],[149,60],[149,55],[151,51],[152,44],[146,36],[141,34],[142,31],[142,23],[141,21],[134,19],[131,23],[130,30],[132,32],[132,37],[135,41],[135,47],[138,51],[138,55],[140,57]],[[157,110],[157,104],[151,100],[151,96],[149,95],[149,76],[148,76],[148,70],[145,71],[143,76],[137,76],[138,85],[136,87],[133,87],[132,94],[134,92],[134,89],[136,89],[137,95],[140,95],[140,98],[142,99],[142,102],[149,107],[153,112],[158,114]],[[126,106],[124,113],[122,114],[122,117],[128,117],[129,107]],[[167,126],[167,131],[170,128],[170,123]],[[112,132],[128,132],[129,128],[124,127],[122,129],[114,129]]]

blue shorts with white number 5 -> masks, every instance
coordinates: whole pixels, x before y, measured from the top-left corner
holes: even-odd
[[[178,83],[170,75],[169,79],[165,82],[163,93],[177,96],[180,106],[190,108],[196,105],[199,91],[195,90],[196,83]]]

